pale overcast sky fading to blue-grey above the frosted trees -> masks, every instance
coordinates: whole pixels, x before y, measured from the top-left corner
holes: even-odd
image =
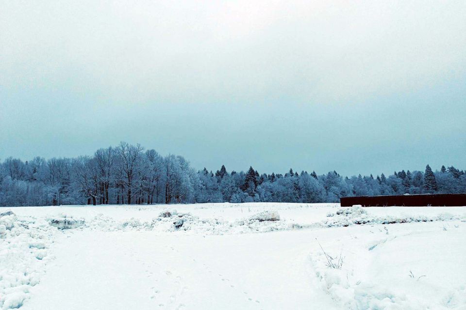
[[[464,0],[0,0],[0,158],[126,140],[214,171],[465,169],[465,16]]]

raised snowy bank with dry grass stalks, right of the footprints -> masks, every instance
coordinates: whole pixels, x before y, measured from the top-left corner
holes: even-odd
[[[345,232],[332,238],[330,230],[310,253],[321,289],[344,309],[466,309],[466,223],[355,225]]]

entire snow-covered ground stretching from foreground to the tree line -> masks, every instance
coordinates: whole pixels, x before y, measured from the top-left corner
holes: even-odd
[[[466,309],[464,207],[170,209],[0,208],[0,309]]]

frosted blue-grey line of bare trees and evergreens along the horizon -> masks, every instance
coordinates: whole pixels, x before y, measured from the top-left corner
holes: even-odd
[[[466,174],[453,166],[395,171],[375,178],[342,177],[336,171],[281,174],[196,171],[183,156],[121,142],[76,158],[35,157],[0,164],[0,206],[154,204],[194,202],[339,202],[366,195],[465,193]]]

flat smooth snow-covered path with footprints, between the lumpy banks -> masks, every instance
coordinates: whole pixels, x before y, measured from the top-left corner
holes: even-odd
[[[311,246],[311,231],[66,232],[21,309],[337,309],[309,274]]]

